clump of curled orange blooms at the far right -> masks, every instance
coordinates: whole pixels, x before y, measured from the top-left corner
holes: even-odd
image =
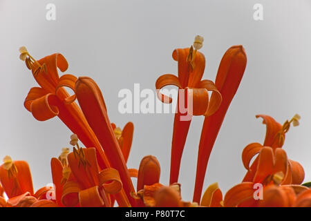
[[[304,179],[303,167],[298,162],[289,160],[281,148],[290,124],[296,121],[294,126],[298,125],[300,118],[298,116],[295,115],[283,126],[267,115],[257,116],[263,117],[264,123],[267,124],[264,144],[273,147],[252,143],[244,148],[242,159],[248,171],[248,180],[243,180],[241,184],[227,191],[224,198],[225,206],[295,206],[297,197],[308,190],[307,187],[299,185]],[[250,169],[249,162],[254,155],[258,156]],[[252,175],[249,175],[250,171]],[[262,198],[259,199],[255,198],[257,184],[263,186]],[[308,202],[308,198],[306,199]]]

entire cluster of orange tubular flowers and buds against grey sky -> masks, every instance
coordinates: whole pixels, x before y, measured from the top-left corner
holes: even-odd
[[[191,120],[182,121],[180,117],[187,113],[178,109],[175,115],[170,183],[164,186],[159,183],[160,164],[156,157],[144,157],[138,170],[127,168],[133,124],[129,122],[120,129],[111,123],[102,92],[93,79],[73,75],[59,77],[57,70],[64,72],[68,68],[63,55],[54,54],[37,61],[22,47],[20,59],[32,70],[40,86],[30,89],[24,106],[39,121],[59,117],[74,133],[70,137],[73,148],[72,151],[63,148],[59,157],[51,160],[55,188],[44,186],[37,192],[33,190],[28,163],[6,156],[0,166],[0,206],[110,207],[115,202],[118,206],[311,206],[311,189],[308,184],[301,185],[305,175],[303,167],[289,160],[282,148],[290,126],[299,125],[299,115],[283,125],[270,116],[258,115],[266,124],[267,133],[263,144],[245,147],[242,160],[247,173],[241,184],[229,189],[224,197],[218,184],[211,184],[201,197],[209,155],[247,63],[243,47],[233,46],[220,62],[215,83],[202,80],[205,57],[198,52],[202,41],[202,37],[196,37],[190,48],[174,50],[178,76],[162,75],[156,81],[157,89],[167,85],[191,89],[193,115],[205,116],[192,202],[182,200],[178,184],[180,160],[191,124]],[[69,95],[66,87],[75,94]],[[171,97],[160,93],[158,97],[162,102],[172,102]],[[178,97],[180,99],[185,97]],[[79,146],[80,141],[86,148]],[[133,177],[137,178],[136,189]],[[254,189],[257,184],[258,192]]]

